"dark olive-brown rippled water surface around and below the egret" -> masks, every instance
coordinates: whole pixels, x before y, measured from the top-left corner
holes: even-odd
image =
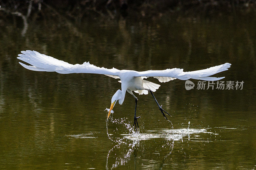
[[[45,23],[46,22],[46,23]],[[254,18],[55,21],[0,31],[0,167],[3,169],[256,169]],[[3,22],[2,22],[3,23]],[[16,59],[36,50],[69,63],[131,69],[204,69],[232,64],[223,81],[243,89],[186,90],[160,83],[156,99],[138,95],[140,133],[133,133],[134,99],[106,123],[121,84],[96,74],[33,72]],[[197,86],[198,81],[192,80]],[[206,85],[207,86],[207,85]],[[216,85],[215,85],[216,88]]]

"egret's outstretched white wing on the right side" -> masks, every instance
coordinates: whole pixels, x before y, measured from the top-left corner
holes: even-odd
[[[220,73],[222,71],[228,70],[231,64],[225,63],[219,66],[210,67],[204,70],[183,72],[183,69],[172,68],[166,70],[148,70],[137,72],[135,77],[147,76],[157,78],[160,82],[166,82],[174,79],[188,80],[197,79],[204,81],[217,81],[223,79],[224,77],[209,77],[213,74]]]

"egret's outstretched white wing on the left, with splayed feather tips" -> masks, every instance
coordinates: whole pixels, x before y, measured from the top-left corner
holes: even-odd
[[[96,67],[89,62],[84,62],[83,64],[69,64],[65,61],[55,59],[53,57],[38,53],[36,51],[21,51],[18,59],[27,62],[31,66],[23,64],[20,65],[33,71],[47,71],[47,72],[57,72],[60,74],[69,73],[94,73],[94,74],[105,74],[113,78],[117,78],[119,71],[116,68],[107,69],[104,67]],[[119,77],[118,77],[119,78]]]

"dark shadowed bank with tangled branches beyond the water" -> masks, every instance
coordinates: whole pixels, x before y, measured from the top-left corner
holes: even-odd
[[[244,15],[255,12],[255,0],[9,0],[0,1],[0,16],[19,12],[31,19],[61,15],[77,24],[85,18],[158,18],[163,14],[186,17]],[[17,14],[16,15],[20,15]],[[36,15],[35,15],[36,14]]]

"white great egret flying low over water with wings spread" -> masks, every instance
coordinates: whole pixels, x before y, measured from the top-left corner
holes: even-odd
[[[111,110],[115,106],[117,100],[119,104],[124,102],[124,97],[126,91],[130,93],[135,98],[135,112],[134,112],[134,122],[135,129],[137,131],[137,126],[139,128],[139,124],[136,117],[136,107],[138,98],[134,96],[132,91],[135,93],[139,93],[139,95],[145,94],[148,92],[154,97],[159,110],[162,112],[163,116],[167,119],[164,113],[170,115],[166,112],[162,106],[159,105],[153,92],[156,91],[160,87],[159,84],[144,80],[148,77],[154,77],[158,79],[160,82],[167,82],[174,79],[180,80],[188,80],[188,79],[196,79],[196,80],[204,80],[204,81],[217,81],[223,79],[224,77],[209,77],[213,74],[228,70],[231,64],[225,63],[219,66],[210,67],[204,70],[183,72],[183,69],[180,68],[172,68],[166,70],[148,70],[148,71],[134,71],[134,70],[118,70],[116,68],[107,69],[104,67],[96,67],[89,62],[84,62],[83,64],[69,64],[67,62],[55,59],[53,57],[38,53],[36,51],[21,51],[22,54],[19,54],[18,59],[27,62],[31,66],[23,64],[21,62],[20,65],[33,71],[47,71],[47,72],[57,72],[60,74],[69,74],[69,73],[94,73],[94,74],[104,74],[109,77],[113,77],[115,79],[120,79],[121,89],[117,90],[111,99],[110,109],[108,111],[108,117],[111,113]],[[107,119],[108,119],[107,117]],[[137,126],[136,126],[137,124]]]

